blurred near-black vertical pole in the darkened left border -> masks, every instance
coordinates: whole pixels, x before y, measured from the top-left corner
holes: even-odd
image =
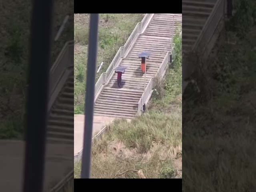
[[[26,117],[24,192],[42,192],[52,34],[52,0],[33,1]]]

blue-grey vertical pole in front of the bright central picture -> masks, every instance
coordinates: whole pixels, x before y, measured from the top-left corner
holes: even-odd
[[[94,109],[94,87],[96,75],[96,60],[98,49],[98,22],[99,14],[90,14],[89,51],[86,78],[84,146],[82,155],[81,178],[90,178],[91,151],[92,151],[92,124]]]

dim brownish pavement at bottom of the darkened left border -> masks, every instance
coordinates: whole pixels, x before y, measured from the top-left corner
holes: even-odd
[[[24,147],[24,141],[0,140],[0,186],[3,192],[23,190]],[[73,169],[72,151],[72,145],[46,145],[45,189],[54,187]]]

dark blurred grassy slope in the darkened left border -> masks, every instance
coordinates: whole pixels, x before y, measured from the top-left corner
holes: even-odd
[[[16,1],[15,4],[13,1],[4,1],[1,6],[0,44],[3,48],[0,49],[0,70],[2,72],[0,76],[0,139],[22,139],[31,4],[28,1]],[[66,14],[73,12],[73,7],[74,2],[55,1],[54,36]],[[70,20],[73,20],[72,14]],[[69,22],[69,26],[67,24],[60,39],[53,44],[53,61],[64,43],[72,40],[72,32],[73,26],[70,26]]]

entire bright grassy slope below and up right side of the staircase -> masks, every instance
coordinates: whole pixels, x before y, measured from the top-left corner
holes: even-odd
[[[94,142],[92,178],[140,178],[138,170],[146,178],[182,177],[181,42],[175,38],[180,54],[152,96],[148,112],[131,122],[116,120]],[[80,163],[75,164],[75,178],[80,170]],[[133,171],[116,175],[126,170]]]

